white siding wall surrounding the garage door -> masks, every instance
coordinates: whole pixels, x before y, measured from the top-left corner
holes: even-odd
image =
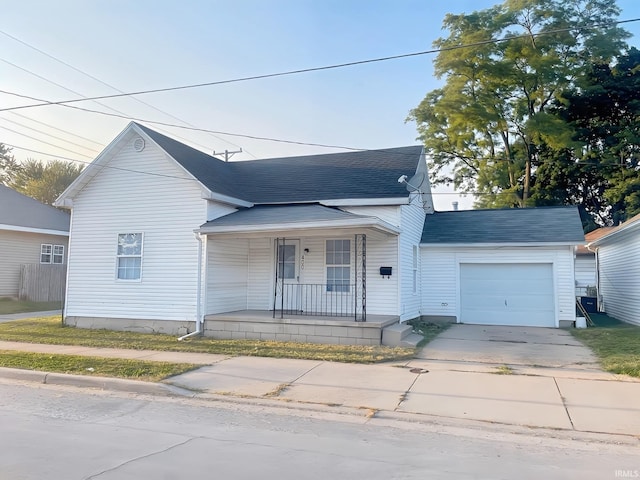
[[[422,314],[460,320],[460,264],[551,264],[558,322],[575,320],[574,258],[570,247],[436,247],[421,245]],[[558,323],[556,322],[556,326]]]

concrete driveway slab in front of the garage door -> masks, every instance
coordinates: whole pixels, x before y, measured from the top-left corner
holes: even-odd
[[[418,356],[443,367],[455,365],[470,371],[495,371],[506,365],[515,373],[541,374],[549,369],[554,375],[564,372],[562,376],[610,376],[602,371],[590,349],[568,331],[556,328],[456,324]]]

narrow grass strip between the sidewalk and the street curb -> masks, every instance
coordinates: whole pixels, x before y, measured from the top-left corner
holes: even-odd
[[[193,370],[197,365],[0,350],[0,367],[158,382]]]

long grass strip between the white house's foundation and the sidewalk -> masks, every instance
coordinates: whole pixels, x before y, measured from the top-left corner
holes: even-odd
[[[68,327],[62,325],[60,318],[57,317],[0,323],[0,340],[134,350],[217,353],[231,356],[303,358],[348,363],[405,360],[413,358],[415,353],[412,348],[215,340],[203,337],[192,337],[178,342],[176,337],[171,335]]]

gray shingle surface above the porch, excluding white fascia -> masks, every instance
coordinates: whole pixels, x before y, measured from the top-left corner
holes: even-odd
[[[202,228],[322,222],[356,218],[365,217],[314,203],[299,205],[258,205],[211,220],[202,225]]]

